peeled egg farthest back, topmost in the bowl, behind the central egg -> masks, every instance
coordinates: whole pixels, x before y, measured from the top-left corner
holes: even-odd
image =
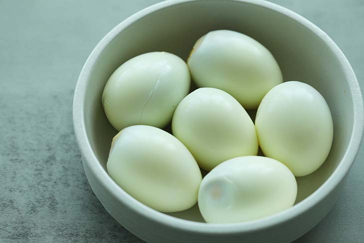
[[[245,109],[256,109],[264,95],[282,83],[273,55],[255,39],[231,30],[215,30],[198,39],[187,60],[199,87],[231,94]]]

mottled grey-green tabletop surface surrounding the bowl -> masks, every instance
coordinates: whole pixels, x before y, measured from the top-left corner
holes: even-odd
[[[96,43],[158,0],[0,0],[0,242],[142,241],[104,210],[72,128],[77,76]],[[364,87],[364,0],[274,0],[325,30]],[[364,242],[364,150],[329,215],[295,243]]]

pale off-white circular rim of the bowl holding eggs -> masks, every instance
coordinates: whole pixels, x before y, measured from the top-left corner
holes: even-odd
[[[88,85],[88,79],[95,65],[97,59],[105,49],[105,47],[127,26],[133,22],[141,19],[142,17],[153,13],[159,9],[170,7],[173,5],[183,4],[186,2],[193,1],[211,1],[211,0],[167,0],[159,2],[143,10],[133,14],[128,17],[117,26],[115,26],[109,33],[107,33],[101,41],[93,49],[89,57],[87,58],[79,78],[77,80],[74,98],[73,98],[73,125],[76,135],[76,140],[80,148],[80,152],[84,163],[87,164],[91,173],[95,176],[99,183],[102,184],[103,188],[111,193],[119,202],[122,202],[130,210],[134,211],[136,214],[146,217],[151,221],[160,223],[161,225],[169,226],[178,230],[194,232],[194,233],[204,233],[204,234],[234,234],[234,233],[246,233],[252,231],[258,231],[261,229],[270,228],[274,225],[281,224],[285,221],[291,220],[298,215],[303,214],[310,208],[314,207],[325,197],[327,197],[336,186],[345,178],[346,174],[349,172],[351,166],[359,151],[360,143],[363,135],[363,99],[361,89],[355,73],[343,52],[336,45],[336,43],[319,27],[304,18],[303,16],[295,13],[283,6],[278,4],[268,2],[265,0],[227,0],[230,2],[245,2],[249,4],[258,5],[260,7],[268,8],[270,10],[276,11],[280,14],[286,15],[287,17],[297,21],[309,30],[311,30],[315,35],[319,36],[322,41],[324,41],[331,51],[335,54],[336,58],[340,61],[342,69],[344,70],[346,79],[350,86],[350,91],[352,94],[353,110],[354,110],[354,124],[353,130],[348,145],[348,149],[345,152],[341,162],[338,167],[332,173],[332,175],[326,180],[326,182],[320,186],[313,194],[308,196],[306,199],[295,205],[294,207],[280,212],[278,214],[243,223],[234,224],[206,224],[201,222],[192,222],[188,220],[183,220],[175,218],[164,213],[153,210],[144,204],[140,203],[125,191],[123,191],[107,174],[104,168],[101,166],[100,162],[96,158],[90,142],[86,134],[85,119],[84,119],[84,107],[85,107],[85,95]],[[220,0],[212,0],[220,1]]]

